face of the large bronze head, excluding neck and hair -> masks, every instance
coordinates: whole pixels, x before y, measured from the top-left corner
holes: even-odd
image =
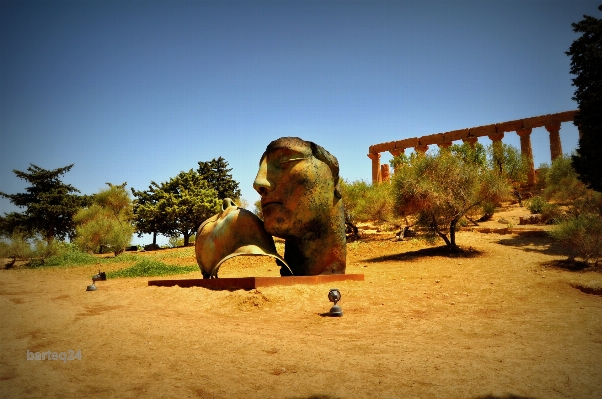
[[[330,168],[295,138],[268,146],[253,187],[261,195],[265,230],[281,238],[320,236],[335,200]]]

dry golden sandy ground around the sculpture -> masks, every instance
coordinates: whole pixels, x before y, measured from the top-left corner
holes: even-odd
[[[365,281],[336,284],[341,318],[322,315],[330,285],[86,292],[125,265],[0,270],[0,397],[602,398],[602,273],[563,268],[549,238],[521,233],[524,212],[506,211],[513,234],[458,233],[468,256],[365,234],[347,267]],[[277,270],[234,258],[220,277]],[[69,350],[81,359],[27,360]]]

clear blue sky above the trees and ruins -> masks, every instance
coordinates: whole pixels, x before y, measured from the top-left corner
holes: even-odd
[[[64,181],[92,194],[223,156],[252,204],[282,136],[369,181],[372,144],[576,109],[564,52],[598,4],[0,0],[0,190],[30,163],[73,163]],[[571,123],[561,139],[576,148]],[[543,128],[532,143],[550,162]]]

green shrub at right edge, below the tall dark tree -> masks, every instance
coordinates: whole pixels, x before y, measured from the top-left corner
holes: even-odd
[[[596,264],[602,259],[602,217],[599,214],[581,214],[558,224],[552,236],[569,252],[569,257],[579,257]]]

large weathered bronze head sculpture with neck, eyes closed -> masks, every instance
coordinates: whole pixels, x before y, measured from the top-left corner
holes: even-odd
[[[285,240],[284,259],[295,276],[345,273],[345,216],[333,155],[282,137],[263,153],[253,187],[261,195],[264,228]]]

